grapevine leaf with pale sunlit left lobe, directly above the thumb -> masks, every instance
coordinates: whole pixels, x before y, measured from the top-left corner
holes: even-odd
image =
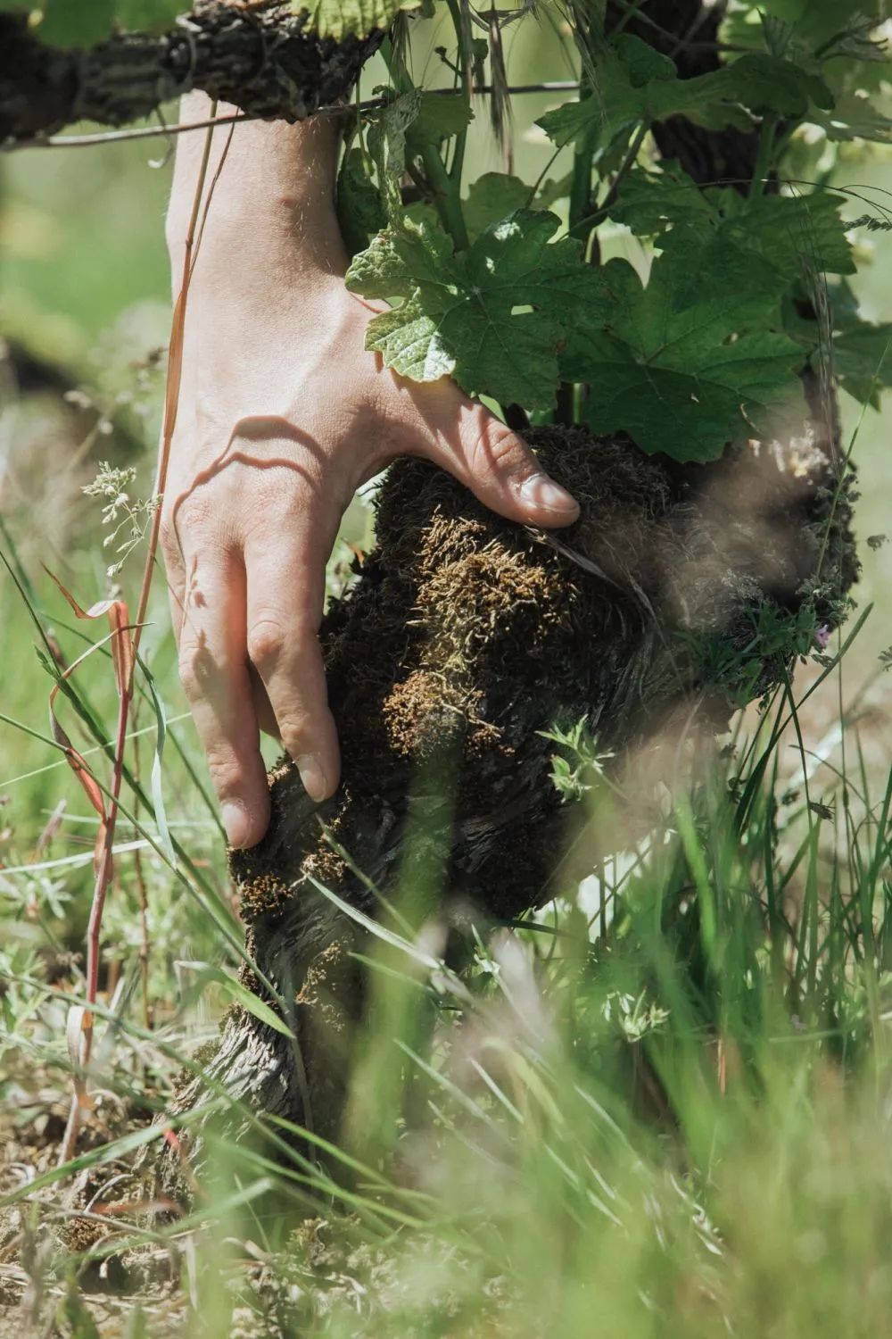
[[[516,210],[459,254],[428,220],[378,234],[348,288],[403,301],[370,321],[366,347],[403,376],[449,374],[471,395],[548,408],[558,345],[600,293],[579,244],[550,241],[558,228],[554,214]]]

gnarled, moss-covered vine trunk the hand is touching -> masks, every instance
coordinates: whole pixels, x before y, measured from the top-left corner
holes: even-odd
[[[715,66],[718,7],[643,8],[629,28],[649,42],[678,46],[653,24],[695,39],[675,51],[683,74]],[[736,131],[679,122],[655,138],[699,182],[753,170],[754,143]],[[645,457],[626,438],[531,431],[582,505],[555,536],[487,513],[429,465],[392,466],[377,548],[322,627],[341,787],[317,811],[284,762],[269,834],[231,860],[247,948],[293,1002],[300,1046],[235,1008],[210,1082],[187,1085],[181,1109],[222,1085],[254,1110],[336,1135],[362,1011],[352,956],[362,931],[320,885],[374,916],[374,889],[393,886],[412,832],[417,858],[427,845],[443,860],[455,916],[516,917],[551,894],[579,822],[554,789],[554,746],[540,731],[584,716],[621,765],[667,722],[714,726],[729,694],[761,694],[786,671],[792,649],[778,660],[762,648],[752,675],[754,609],[792,623],[808,603],[818,624],[833,624],[856,561],[834,408],[818,375],[806,371],[805,383],[813,418],[796,438],[709,466]]]

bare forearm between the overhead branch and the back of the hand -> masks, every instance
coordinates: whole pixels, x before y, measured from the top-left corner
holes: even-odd
[[[205,94],[190,94],[182,103],[182,119],[205,121],[210,107]],[[235,110],[223,103],[218,107],[219,115]],[[269,300],[269,295],[282,292],[282,284],[293,292],[296,283],[312,287],[320,279],[344,273],[334,210],[337,137],[333,116],[296,126],[246,122],[231,127],[231,138],[229,126],[214,131],[205,198],[223,153],[226,158],[207,213],[197,281],[201,270],[202,285],[223,284],[238,297],[255,291],[262,277]],[[182,279],[205,142],[205,133],[197,130],[182,134],[177,146],[167,212],[175,291]]]

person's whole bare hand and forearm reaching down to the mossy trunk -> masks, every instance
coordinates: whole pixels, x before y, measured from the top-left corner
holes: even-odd
[[[210,104],[197,94],[182,111],[201,121]],[[226,138],[214,134],[209,179]],[[181,135],[177,150],[175,292],[203,139]],[[453,382],[404,380],[365,351],[374,308],[342,283],[336,163],[333,118],[237,126],[189,295],[162,548],[181,678],[235,848],[269,822],[261,730],[282,740],[312,799],[337,789],[317,633],[325,565],[361,483],[419,455],[512,521],[578,516],[522,439]]]

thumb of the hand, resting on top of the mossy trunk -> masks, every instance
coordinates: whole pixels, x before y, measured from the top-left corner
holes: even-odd
[[[527,443],[495,414],[469,400],[447,432],[431,432],[416,453],[441,465],[484,503],[510,521],[527,525],[572,525],[575,499],[546,474]]]

